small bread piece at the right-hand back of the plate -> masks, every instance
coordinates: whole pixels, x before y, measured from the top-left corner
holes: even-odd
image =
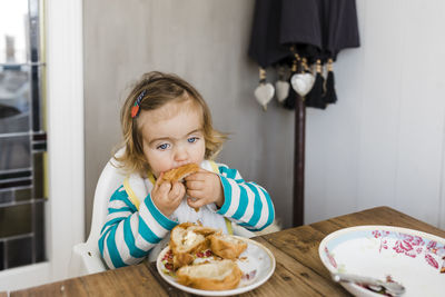
[[[214,234],[208,239],[211,251],[225,259],[236,259],[247,248],[245,241],[225,234]]]

